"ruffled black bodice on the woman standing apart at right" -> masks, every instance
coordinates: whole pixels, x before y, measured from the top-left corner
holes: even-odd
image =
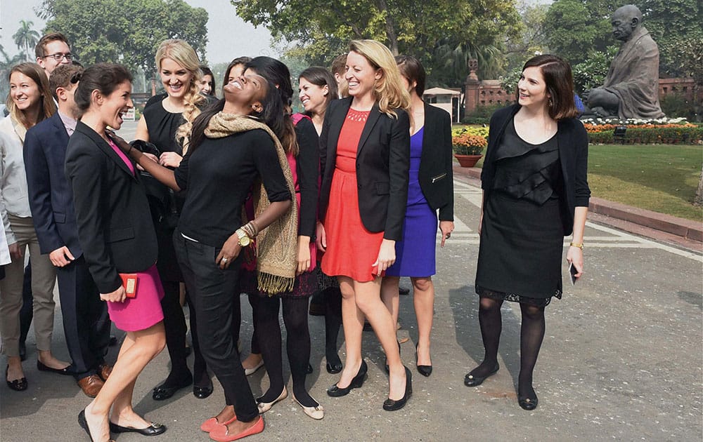
[[[546,142],[532,145],[517,135],[515,119],[511,119],[494,159],[494,189],[538,204],[559,197],[556,192],[560,181],[556,134]]]

